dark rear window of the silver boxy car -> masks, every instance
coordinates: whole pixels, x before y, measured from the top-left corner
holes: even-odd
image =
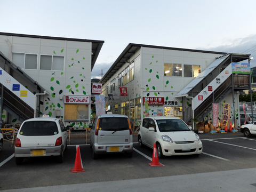
[[[99,129],[103,131],[129,130],[129,124],[125,117],[103,117],[100,118]]]

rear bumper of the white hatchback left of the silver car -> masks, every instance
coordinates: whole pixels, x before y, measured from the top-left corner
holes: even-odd
[[[33,155],[33,150],[44,150],[43,155]],[[63,146],[53,147],[15,147],[15,157],[42,157],[42,156],[59,156]]]

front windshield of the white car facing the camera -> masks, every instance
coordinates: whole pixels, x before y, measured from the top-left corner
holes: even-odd
[[[190,131],[189,127],[181,119],[159,119],[156,120],[159,131]]]

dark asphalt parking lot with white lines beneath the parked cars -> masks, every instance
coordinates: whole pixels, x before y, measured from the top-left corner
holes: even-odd
[[[101,181],[166,177],[255,167],[256,137],[245,138],[242,133],[199,134],[203,142],[203,154],[172,156],[159,159],[164,166],[151,167],[153,149],[138,146],[134,135],[133,157],[123,154],[101,155],[92,159],[90,145],[83,138],[71,139],[64,162],[56,163],[53,157],[27,158],[21,165],[15,164],[14,147],[4,142],[0,154],[0,190],[43,186],[70,185]],[[71,173],[74,168],[76,148],[79,146],[85,172]]]

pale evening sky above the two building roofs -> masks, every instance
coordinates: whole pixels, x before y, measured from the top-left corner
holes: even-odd
[[[92,78],[129,43],[251,54],[255,0],[1,0],[0,31],[105,41]]]

